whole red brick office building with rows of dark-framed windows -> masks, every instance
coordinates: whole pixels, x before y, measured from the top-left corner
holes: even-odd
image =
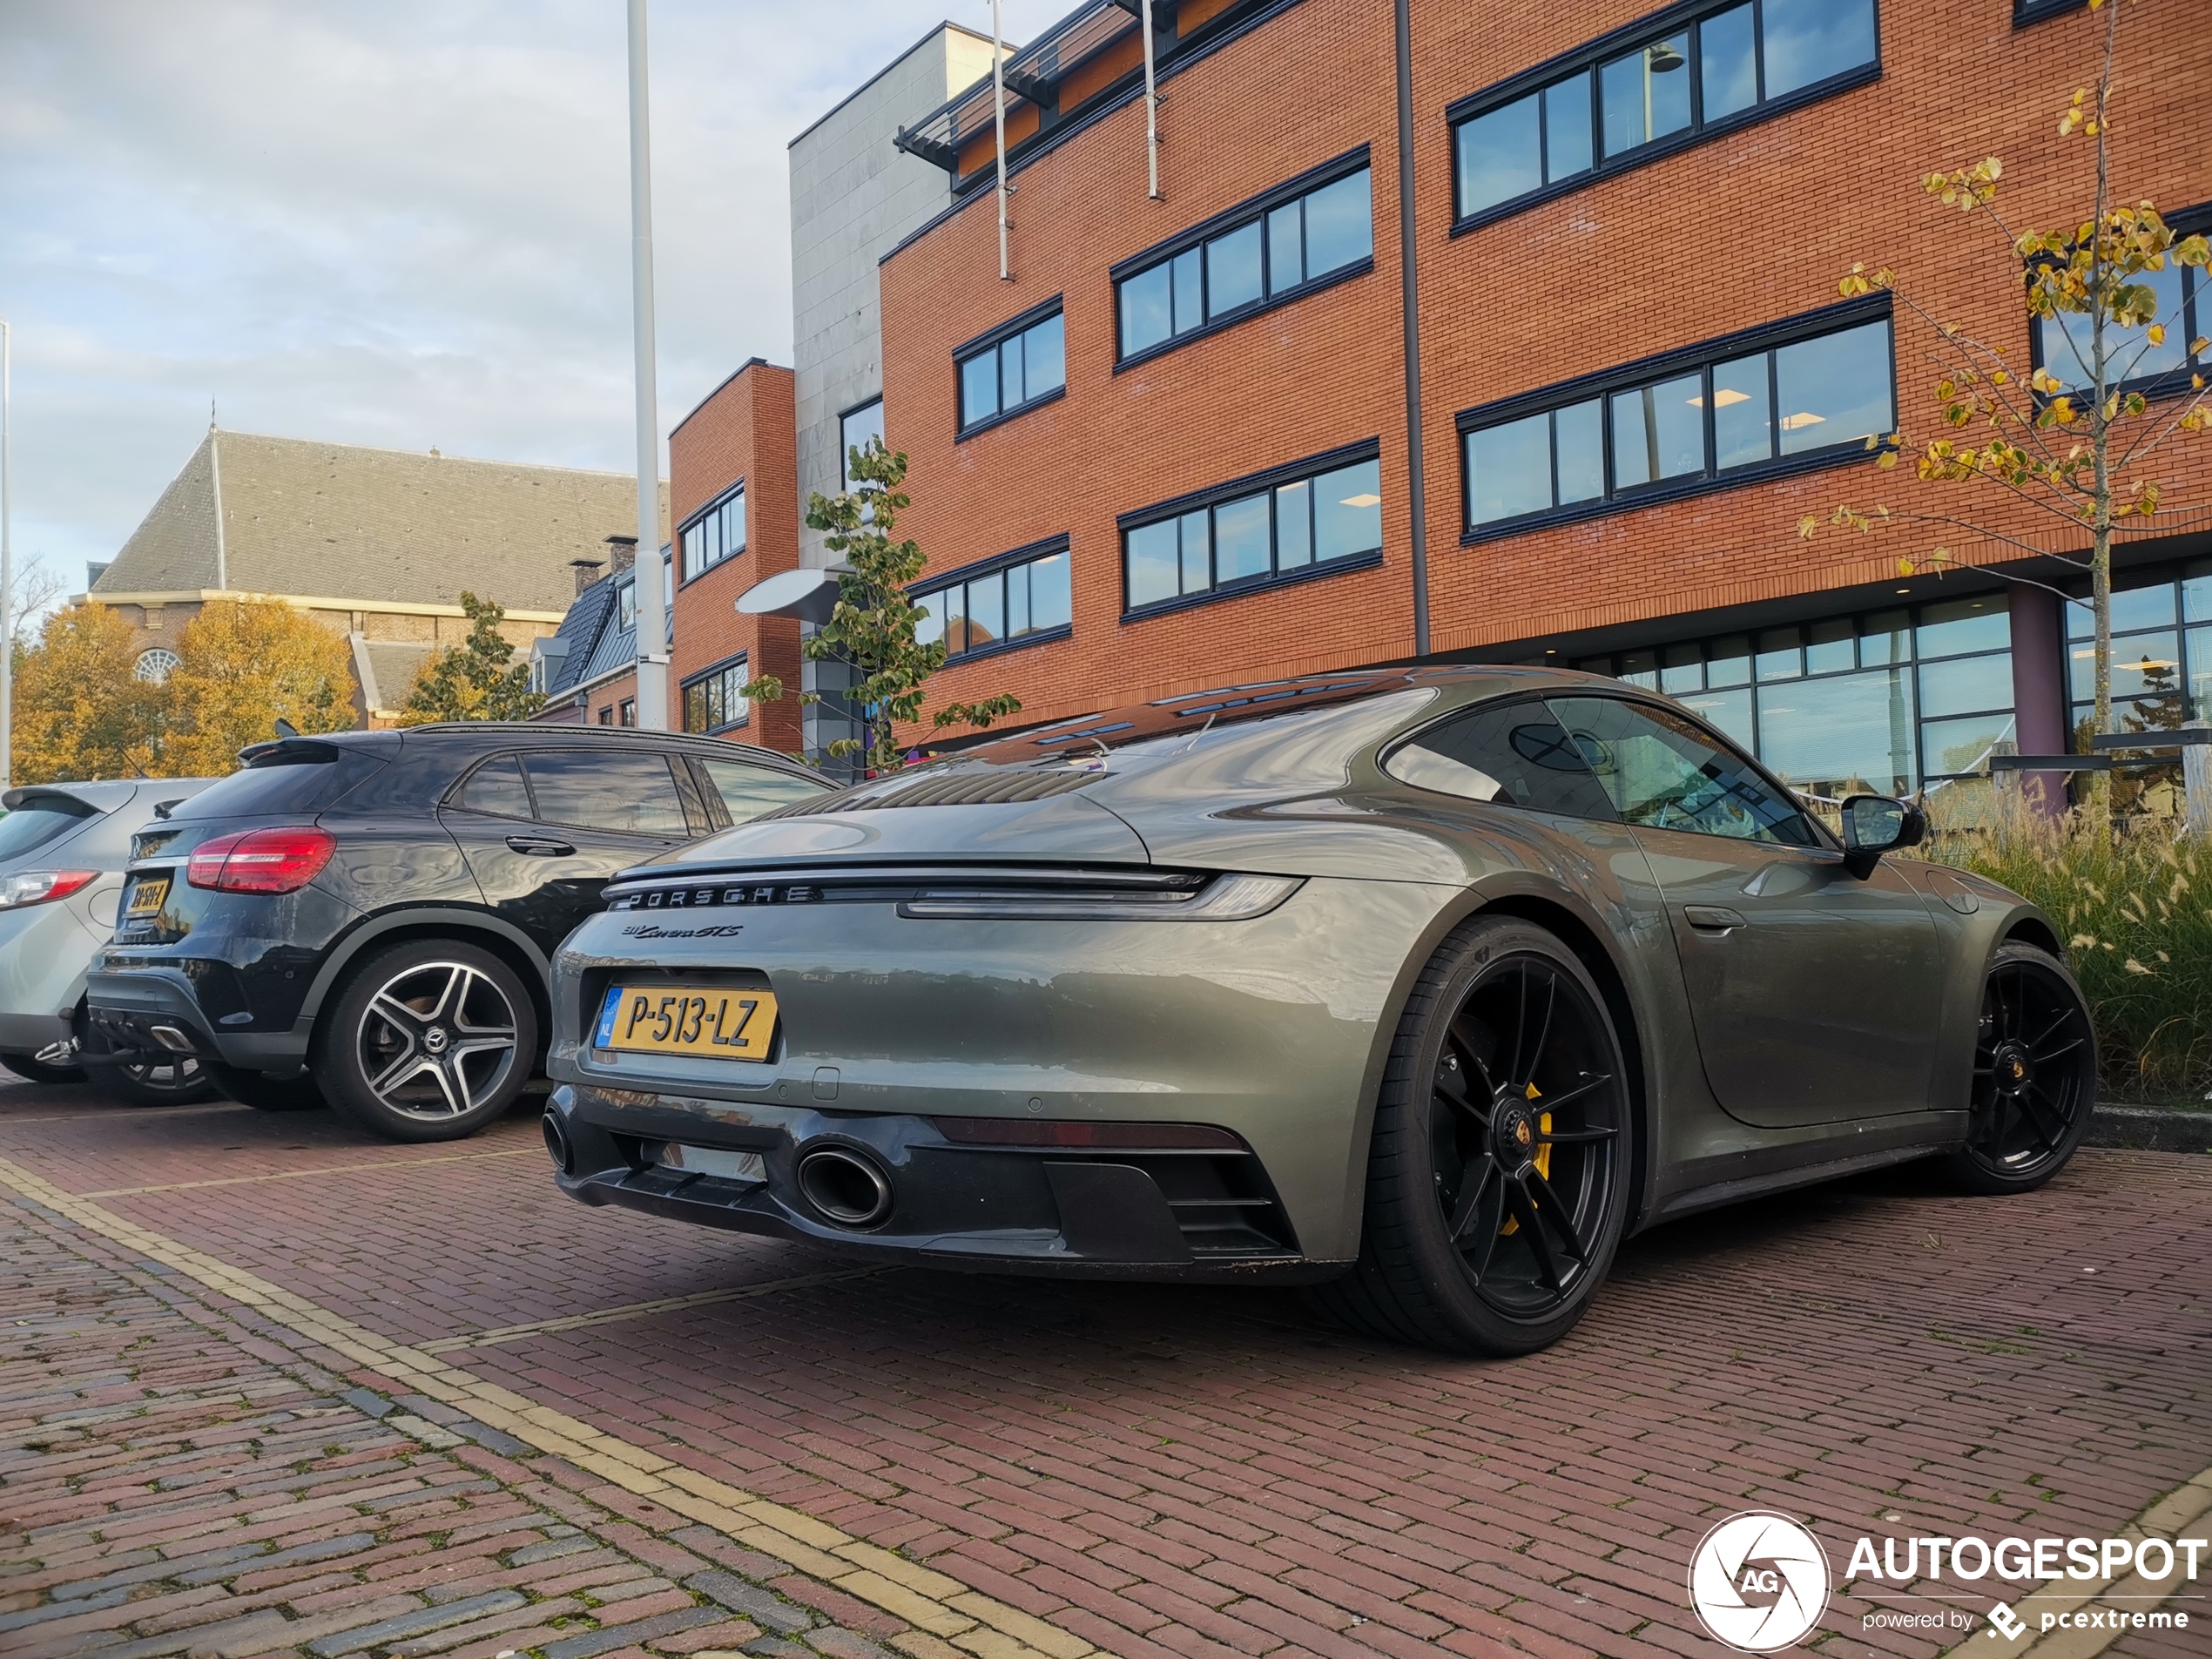
[[[1663,686],[1807,787],[1907,790],[2066,748],[2081,608],[1989,566],[2079,593],[2035,553],[2086,538],[1997,491],[1876,471],[1865,434],[1933,425],[1931,336],[1836,283],[1891,265],[2017,374],[2042,361],[2002,239],[1918,177],[2002,155],[2013,223],[2084,217],[2090,148],[2055,128],[2104,13],[1152,15],[1157,199],[1133,11],[1099,0],[1009,60],[1004,279],[991,84],[900,137],[953,192],[880,263],[883,425],[911,456],[905,529],[956,646],[942,697],[1015,690],[1048,721],[1296,670],[1511,659]],[[2201,0],[2130,7],[2115,179],[2188,228],[2212,204],[2208,71]],[[2201,272],[2159,281],[2197,307],[2174,336],[2212,332]],[[2168,343],[2148,389],[2185,387],[2188,358]],[[2150,723],[2212,714],[2212,442],[2168,456],[2181,511],[2128,538],[2115,622],[2115,690]],[[1838,502],[1995,535],[1801,540]],[[1966,568],[1898,577],[1936,546]]]

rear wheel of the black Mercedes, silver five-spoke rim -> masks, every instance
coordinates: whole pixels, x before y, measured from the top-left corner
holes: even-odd
[[[347,1119],[394,1141],[458,1141],[531,1079],[538,1011],[498,956],[409,940],[361,964],[316,1035],[314,1077]]]

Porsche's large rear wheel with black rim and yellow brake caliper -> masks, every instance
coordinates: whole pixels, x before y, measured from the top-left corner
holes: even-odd
[[[1360,1259],[1314,1301],[1453,1354],[1559,1340],[1621,1243],[1626,1075],[1606,1000],[1557,936],[1509,916],[1462,925],[1398,1022]]]

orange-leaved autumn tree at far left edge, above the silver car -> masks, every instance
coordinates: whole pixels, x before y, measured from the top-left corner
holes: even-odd
[[[15,783],[153,772],[164,688],[137,679],[131,624],[104,604],[46,615],[15,655]],[[226,768],[228,770],[228,768]]]

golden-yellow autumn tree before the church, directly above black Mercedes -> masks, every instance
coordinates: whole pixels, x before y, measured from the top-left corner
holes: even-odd
[[[279,719],[299,732],[354,726],[343,635],[276,599],[210,599],[177,630],[177,657],[161,688],[166,776],[230,772],[241,748],[276,734]]]

